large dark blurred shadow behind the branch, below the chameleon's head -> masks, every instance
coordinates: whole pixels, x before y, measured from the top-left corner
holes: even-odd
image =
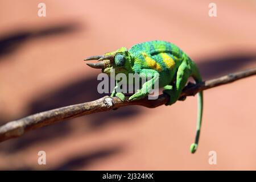
[[[55,109],[57,107],[79,104],[82,102],[93,101],[105,96],[99,94],[97,91],[97,85],[100,81],[97,81],[97,75],[86,78],[85,80],[77,80],[71,84],[67,84],[58,90],[46,93],[44,96],[39,96],[38,100],[33,101],[28,107],[30,111],[23,117],[40,111],[46,111]],[[86,123],[84,124],[84,130],[86,133],[94,132],[97,129],[105,125],[110,125],[114,122],[121,123],[127,121],[128,118],[136,114],[141,113],[141,109],[137,106],[130,106],[126,108],[120,108],[118,110],[112,110],[103,113],[97,113],[81,117]],[[70,121],[71,119],[67,120]],[[71,123],[63,121],[56,123],[55,125],[42,127],[40,129],[31,131],[20,138],[15,138],[11,141],[11,144],[3,147],[0,145],[0,150],[9,153],[18,152],[24,148],[30,147],[33,144],[39,144],[47,140],[53,140],[64,137],[72,132]],[[132,121],[132,120],[130,120]],[[86,125],[85,125],[86,124]],[[89,127],[89,128],[88,128]],[[6,143],[9,143],[7,141]]]

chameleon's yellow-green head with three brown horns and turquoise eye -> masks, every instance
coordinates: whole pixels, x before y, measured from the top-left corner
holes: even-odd
[[[110,73],[114,72],[115,75],[118,73],[132,73],[132,57],[127,48],[122,47],[117,51],[107,52],[102,56],[90,56],[84,59],[98,60],[98,63],[87,63],[89,67],[102,69],[103,73],[110,76]]]

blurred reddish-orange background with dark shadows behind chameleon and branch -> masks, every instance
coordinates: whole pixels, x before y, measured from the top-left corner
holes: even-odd
[[[148,40],[181,47],[204,80],[256,66],[255,1],[0,1],[0,123],[92,101],[86,56]],[[70,119],[0,144],[0,169],[256,169],[256,77],[207,90],[200,146],[196,97]],[[47,165],[38,165],[38,151]],[[209,165],[209,151],[217,165]]]

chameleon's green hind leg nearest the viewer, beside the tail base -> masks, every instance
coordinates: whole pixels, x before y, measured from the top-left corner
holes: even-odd
[[[184,61],[181,63],[180,67],[177,70],[176,83],[171,87],[171,85],[164,86],[163,93],[170,96],[170,100],[166,103],[166,105],[172,105],[177,100],[184,101],[185,97],[180,97],[180,93],[182,89],[185,87],[189,76],[191,76],[191,71],[187,66],[187,63]]]

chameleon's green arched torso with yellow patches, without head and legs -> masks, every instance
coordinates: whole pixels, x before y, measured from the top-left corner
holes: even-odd
[[[129,49],[129,52],[134,57],[134,72],[140,73],[142,69],[154,69],[163,78],[160,79],[159,87],[170,84],[174,80],[184,56],[184,52],[179,47],[160,40],[136,44]]]

